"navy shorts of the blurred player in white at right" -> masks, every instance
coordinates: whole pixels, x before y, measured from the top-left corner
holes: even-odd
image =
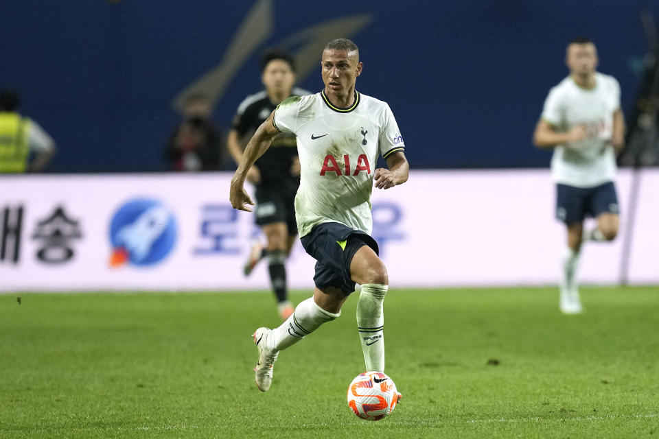
[[[556,185],[556,218],[568,226],[583,222],[587,216],[597,218],[601,213],[619,213],[616,186],[607,182],[583,189]]]

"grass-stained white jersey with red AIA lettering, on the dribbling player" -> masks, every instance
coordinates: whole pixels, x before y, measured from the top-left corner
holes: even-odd
[[[336,108],[325,92],[290,97],[275,110],[275,127],[297,136],[301,164],[295,197],[299,235],[339,222],[371,233],[371,191],[378,155],[404,150],[386,102],[355,91],[350,108]]]

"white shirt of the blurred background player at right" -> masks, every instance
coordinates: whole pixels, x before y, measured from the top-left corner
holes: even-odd
[[[595,73],[595,86],[579,87],[568,76],[551,89],[542,119],[558,132],[588,127],[588,139],[557,145],[551,159],[554,180],[574,187],[594,187],[613,181],[616,157],[611,145],[613,114],[620,108],[620,86],[615,78]]]

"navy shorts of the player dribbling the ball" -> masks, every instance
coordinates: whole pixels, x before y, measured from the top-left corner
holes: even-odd
[[[361,230],[355,230],[338,222],[319,224],[300,239],[307,253],[316,259],[314,283],[321,291],[337,287],[346,296],[355,291],[350,276],[350,263],[357,250],[369,246],[379,254],[375,239]]]

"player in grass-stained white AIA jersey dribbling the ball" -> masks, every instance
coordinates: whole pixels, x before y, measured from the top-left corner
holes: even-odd
[[[249,141],[231,180],[235,209],[254,204],[244,181],[254,161],[279,132],[297,135],[301,182],[295,198],[297,227],[305,250],[316,259],[314,295],[303,300],[280,327],[259,328],[257,386],[270,388],[273,363],[282,351],[321,324],[340,316],[355,284],[357,327],[366,370],[384,371],[383,301],[389,278],[371,233],[371,191],[407,181],[404,143],[389,106],[355,90],[362,73],[357,46],[345,38],[323,50],[321,93],[290,97],[273,111]],[[375,169],[382,155],[389,169]]]

